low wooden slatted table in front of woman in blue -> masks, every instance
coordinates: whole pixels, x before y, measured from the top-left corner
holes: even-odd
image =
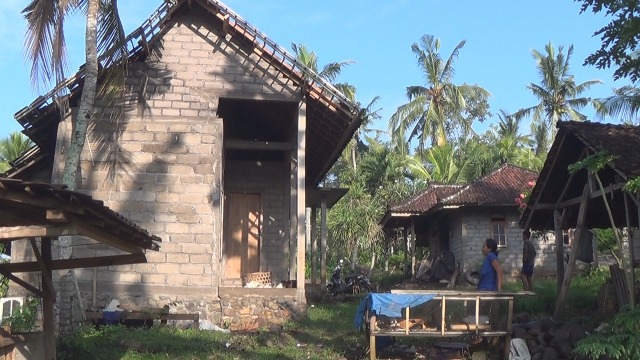
[[[405,336],[405,337],[456,337],[462,335],[473,334],[476,336],[489,336],[489,337],[504,337],[505,338],[505,351],[504,358],[509,358],[509,344],[511,342],[511,322],[513,318],[513,299],[515,296],[528,296],[534,295],[533,292],[498,292],[498,291],[456,291],[456,290],[392,290],[391,294],[415,294],[415,295],[433,295],[433,299],[429,302],[436,301],[440,306],[440,321],[439,324],[428,324],[426,321],[422,321],[415,326],[416,323],[412,322],[411,309],[405,308],[404,319],[399,324],[404,327],[395,329],[384,329],[379,326],[380,318],[374,315],[365,315],[365,322],[369,324],[369,348],[371,360],[376,359],[376,337],[378,336]],[[450,315],[449,311],[451,307],[447,307],[447,304],[452,302],[475,302],[475,315],[474,323],[459,323],[453,324],[447,322],[447,317]],[[480,302],[494,302],[501,301],[508,303],[507,310],[507,323],[504,330],[491,329],[491,324],[483,324],[480,322]],[[427,302],[427,303],[429,303]],[[425,304],[427,304],[425,303]],[[425,326],[428,324],[431,326]],[[436,326],[433,326],[436,325]],[[418,327],[414,329],[414,327]]]

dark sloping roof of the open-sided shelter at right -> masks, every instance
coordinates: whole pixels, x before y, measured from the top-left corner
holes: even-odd
[[[603,186],[612,190],[607,198],[617,226],[627,226],[625,197],[620,196],[621,184],[640,174],[640,127],[588,121],[560,121],[556,127],[556,137],[539,179],[531,191],[520,225],[533,230],[553,229],[554,211],[562,207],[565,216],[561,228],[575,227],[579,201],[574,200],[579,200],[589,179],[586,170],[571,175],[568,167],[585,156],[604,150],[613,155],[614,159],[611,165],[598,171],[598,176]],[[562,205],[563,203],[567,204]],[[636,205],[629,201],[627,206]],[[587,208],[585,224],[588,228],[611,227],[607,209],[600,196],[592,195]],[[632,226],[638,223],[637,216],[631,216],[629,220]]]

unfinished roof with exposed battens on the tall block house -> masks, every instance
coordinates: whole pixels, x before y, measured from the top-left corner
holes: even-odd
[[[144,59],[150,43],[161,36],[172,24],[172,16],[179,11],[206,11],[214,18],[220,31],[231,35],[234,41],[250,44],[246,56],[265,59],[272,69],[291,79],[304,89],[307,100],[307,185],[317,186],[362,123],[363,111],[333,85],[301,64],[285,49],[216,0],[166,1],[135,31],[127,37],[129,62]],[[246,48],[246,46],[244,46]],[[66,92],[70,102],[78,100],[84,80],[84,68],[49,93],[38,97],[15,114],[23,133],[35,147],[27,156],[15,160],[8,176],[27,178],[33,169],[51,166],[57,139],[57,126],[61,121],[57,96]]]

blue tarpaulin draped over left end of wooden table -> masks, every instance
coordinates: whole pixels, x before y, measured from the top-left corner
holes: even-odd
[[[401,317],[402,309],[422,305],[430,301],[436,294],[389,294],[389,293],[370,293],[362,299],[358,310],[354,325],[356,329],[362,327],[364,314],[367,310],[373,315],[384,315],[389,317]]]

